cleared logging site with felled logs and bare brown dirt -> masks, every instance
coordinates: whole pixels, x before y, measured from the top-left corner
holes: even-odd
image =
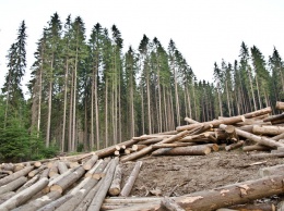
[[[284,210],[284,113],[271,112],[186,117],[102,150],[2,163],[0,210]]]

